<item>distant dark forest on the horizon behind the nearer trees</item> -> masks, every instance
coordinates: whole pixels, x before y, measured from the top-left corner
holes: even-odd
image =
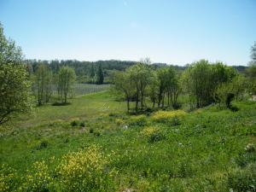
[[[26,60],[27,70],[30,74],[37,71],[40,64],[46,64],[52,73],[57,73],[61,67],[72,67],[76,73],[77,81],[79,83],[96,83],[96,72],[99,67],[102,67],[102,73],[104,75],[104,83],[110,83],[110,79],[114,71],[125,71],[126,68],[135,65],[137,61],[77,61],[77,60]],[[155,69],[159,67],[166,67],[166,63],[153,63]],[[182,73],[186,68],[185,66],[168,65],[174,67],[178,73]],[[233,66],[239,73],[244,73],[245,66]]]

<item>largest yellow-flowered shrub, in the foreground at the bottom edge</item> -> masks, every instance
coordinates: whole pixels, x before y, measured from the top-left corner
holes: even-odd
[[[108,160],[96,145],[64,155],[56,168],[64,191],[113,191],[113,172],[106,171]]]

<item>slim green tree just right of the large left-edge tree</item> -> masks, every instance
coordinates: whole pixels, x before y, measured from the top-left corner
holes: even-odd
[[[52,73],[45,64],[38,66],[35,73],[35,95],[37,96],[38,106],[49,102],[52,94]]]

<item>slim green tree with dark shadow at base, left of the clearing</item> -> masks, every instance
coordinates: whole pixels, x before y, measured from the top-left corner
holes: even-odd
[[[61,67],[58,73],[58,95],[62,103],[67,103],[67,96],[72,90],[72,85],[76,79],[75,72],[71,67]]]

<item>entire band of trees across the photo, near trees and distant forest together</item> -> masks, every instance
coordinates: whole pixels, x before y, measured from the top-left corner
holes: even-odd
[[[178,97],[184,94],[189,96],[191,108],[201,108],[212,102],[224,103],[230,108],[230,102],[244,96],[245,91],[250,96],[256,95],[255,55],[256,43],[246,75],[221,62],[201,60],[186,67],[167,67],[166,64],[151,64],[145,59],[138,63],[127,61],[120,66],[119,61],[113,61],[113,66],[120,67],[120,71],[113,69],[109,77],[112,77],[114,90],[125,98],[128,111],[131,110],[130,102],[135,103],[136,112],[155,107],[180,108]],[[102,84],[108,70],[105,65],[109,64],[108,61],[96,62],[97,65],[58,62],[35,61],[28,65],[20,47],[5,38],[0,23],[0,125],[17,119],[20,113],[31,112],[35,104],[49,102],[53,90],[57,91],[60,103],[67,103],[73,83],[79,81],[79,67],[89,67],[89,77],[96,77],[96,82]]]

